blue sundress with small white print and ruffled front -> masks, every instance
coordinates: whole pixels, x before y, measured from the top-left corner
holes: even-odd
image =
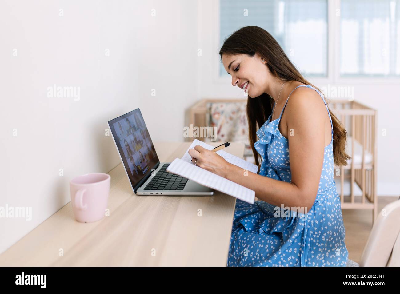
[[[316,90],[310,85],[298,87]],[[279,118],[270,122],[270,115],[257,131],[260,140],[254,143],[262,157],[259,174],[284,182],[291,181],[289,145],[278,126],[289,97]],[[325,100],[324,103],[328,110]],[[346,266],[348,251],[344,244],[340,196],[333,179],[330,114],[329,118],[332,140],[324,149],[320,183],[312,208],[297,215],[287,211],[284,214],[284,210],[278,210],[277,214],[276,206],[265,201],[249,204],[236,199],[227,266]]]

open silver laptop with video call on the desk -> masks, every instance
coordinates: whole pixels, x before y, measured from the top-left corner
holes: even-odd
[[[211,188],[166,171],[137,108],[108,122],[132,190],[137,195],[210,196]]]

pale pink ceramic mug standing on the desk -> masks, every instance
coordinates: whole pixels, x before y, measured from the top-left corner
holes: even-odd
[[[108,204],[110,175],[101,172],[77,176],[70,181],[71,203],[78,222],[101,220]]]

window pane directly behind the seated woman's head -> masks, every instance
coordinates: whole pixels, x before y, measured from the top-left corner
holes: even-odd
[[[327,76],[327,0],[220,0],[220,46],[244,26],[267,30],[304,76]]]

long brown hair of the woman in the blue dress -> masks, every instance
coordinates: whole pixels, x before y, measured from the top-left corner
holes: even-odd
[[[230,35],[221,47],[220,56],[221,60],[224,53],[228,55],[247,54],[253,57],[256,52],[266,59],[268,69],[272,75],[282,82],[298,81],[316,88],[324,95],[320,89],[303,78],[270,33],[258,26],[245,26]],[[250,98],[249,96],[247,99],[246,111],[249,124],[249,141],[257,165],[259,164],[259,154],[254,148],[254,142],[257,139],[256,131],[272,113],[273,103],[272,97],[265,93],[255,98]],[[334,163],[337,166],[346,165],[347,160],[350,159],[350,156],[345,152],[347,132],[330,109],[329,112],[333,125]]]

